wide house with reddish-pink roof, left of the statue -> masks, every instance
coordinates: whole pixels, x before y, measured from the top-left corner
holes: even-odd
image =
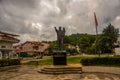
[[[37,41],[26,41],[21,45],[15,46],[15,52],[16,53],[26,52],[29,55],[32,55],[33,53],[47,54],[48,47],[49,47],[48,43],[42,43]]]

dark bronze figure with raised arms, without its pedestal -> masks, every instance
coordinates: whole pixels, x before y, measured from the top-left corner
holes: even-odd
[[[59,27],[59,30],[57,30],[57,28],[55,27],[55,31],[57,33],[58,49],[62,50],[63,37],[65,36],[65,28],[63,27],[63,29],[61,29],[61,27]]]

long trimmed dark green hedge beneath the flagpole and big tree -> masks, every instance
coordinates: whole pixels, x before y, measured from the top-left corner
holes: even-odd
[[[86,66],[120,66],[120,57],[89,57],[82,58],[80,62]]]

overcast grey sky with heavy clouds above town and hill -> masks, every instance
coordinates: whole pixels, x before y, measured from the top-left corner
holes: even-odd
[[[0,31],[19,34],[26,40],[55,40],[54,27],[66,34],[95,34],[111,23],[120,28],[120,0],[0,0]]]

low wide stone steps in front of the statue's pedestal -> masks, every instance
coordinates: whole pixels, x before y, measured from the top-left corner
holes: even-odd
[[[44,74],[80,74],[82,73],[81,66],[52,66],[44,67],[39,73]]]

